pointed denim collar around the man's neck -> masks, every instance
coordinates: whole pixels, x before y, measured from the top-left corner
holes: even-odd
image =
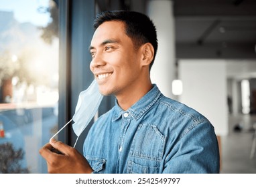
[[[115,100],[112,122],[121,118],[121,116],[125,112],[127,112],[129,116],[131,116],[135,120],[139,120],[139,118],[141,118],[141,116],[143,116],[143,114],[147,112],[147,110],[149,110],[149,108],[151,108],[153,104],[155,104],[161,94],[162,93],[161,91],[159,91],[157,85],[153,84],[152,89],[149,90],[149,92],[147,92],[145,96],[143,96],[138,102],[133,104],[133,106],[131,106],[131,108],[126,111],[120,108],[117,100]]]

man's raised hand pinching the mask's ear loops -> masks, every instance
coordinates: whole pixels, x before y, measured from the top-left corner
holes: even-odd
[[[40,149],[50,174],[90,174],[93,172],[86,158],[76,149],[55,139]]]

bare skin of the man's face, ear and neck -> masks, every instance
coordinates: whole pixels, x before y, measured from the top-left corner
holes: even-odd
[[[99,25],[92,37],[90,53],[90,69],[101,93],[115,95],[123,110],[151,89],[149,64],[153,59],[153,46],[151,43],[134,46],[125,33],[125,23],[106,21]]]

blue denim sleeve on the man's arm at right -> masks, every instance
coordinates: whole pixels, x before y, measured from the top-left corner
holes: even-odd
[[[219,173],[218,141],[209,122],[191,128],[169,152],[163,173]]]

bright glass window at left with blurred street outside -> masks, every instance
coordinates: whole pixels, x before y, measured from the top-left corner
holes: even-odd
[[[58,130],[58,6],[0,0],[0,173],[46,173]]]

